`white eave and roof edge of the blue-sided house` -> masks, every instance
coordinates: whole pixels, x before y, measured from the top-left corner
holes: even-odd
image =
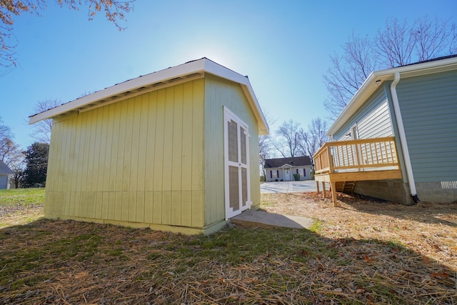
[[[406,79],[412,76],[453,71],[456,69],[457,55],[451,55],[430,59],[428,61],[421,61],[416,64],[408,64],[406,66],[398,66],[396,68],[371,72],[366,80],[363,81],[360,88],[358,88],[351,101],[348,102],[343,111],[341,111],[341,114],[338,115],[330,126],[326,135],[331,136],[335,134],[336,131],[338,131],[338,129],[340,129],[358,109],[360,109],[371,94],[373,94],[384,81],[392,81],[395,74],[398,73],[398,76],[400,76],[401,79]]]

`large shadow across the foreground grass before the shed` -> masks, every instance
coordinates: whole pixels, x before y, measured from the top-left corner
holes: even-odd
[[[0,230],[1,304],[453,304],[456,273],[400,244],[307,229],[185,236],[39,220]]]

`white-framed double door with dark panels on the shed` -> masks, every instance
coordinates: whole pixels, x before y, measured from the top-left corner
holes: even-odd
[[[251,207],[248,126],[224,107],[226,219]]]

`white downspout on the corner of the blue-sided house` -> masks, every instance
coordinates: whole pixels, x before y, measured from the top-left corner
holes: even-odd
[[[403,150],[403,160],[405,161],[406,176],[408,176],[409,190],[411,198],[414,203],[418,203],[419,199],[416,192],[416,183],[414,182],[413,166],[411,166],[411,159],[409,158],[408,143],[406,143],[405,127],[403,126],[403,119],[401,117],[400,104],[398,104],[398,96],[396,86],[400,81],[400,72],[396,72],[393,76],[393,82],[391,84],[391,96],[393,103],[393,111],[395,112],[395,118],[398,127],[398,136],[400,137],[401,149]]]

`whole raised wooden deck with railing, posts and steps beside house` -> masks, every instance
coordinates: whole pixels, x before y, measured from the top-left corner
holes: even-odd
[[[393,136],[327,142],[313,158],[317,190],[320,181],[325,198],[328,182],[334,206],[336,191],[353,189],[356,181],[401,179]]]

